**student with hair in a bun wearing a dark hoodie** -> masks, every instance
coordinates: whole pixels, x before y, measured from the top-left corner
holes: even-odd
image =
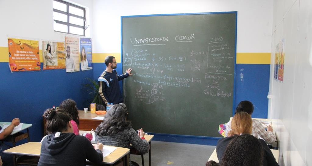
[[[38,166],[85,166],[85,159],[103,161],[103,144],[92,145],[84,136],[75,135],[68,113],[47,109],[43,117],[50,134],[42,141]]]

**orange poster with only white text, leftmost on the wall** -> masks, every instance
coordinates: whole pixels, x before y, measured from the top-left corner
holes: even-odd
[[[11,71],[40,70],[39,41],[7,38]]]

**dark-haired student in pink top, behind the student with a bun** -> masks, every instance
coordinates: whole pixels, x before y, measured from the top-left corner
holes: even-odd
[[[74,134],[79,135],[79,130],[78,130],[78,125],[79,125],[79,112],[76,107],[76,102],[71,99],[66,99],[61,102],[60,109],[66,111],[69,115],[71,115],[71,125],[73,126],[74,129]],[[87,137],[90,141],[92,140],[92,134],[87,133],[85,134],[85,137]]]

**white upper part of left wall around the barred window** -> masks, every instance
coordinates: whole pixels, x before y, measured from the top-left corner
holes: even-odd
[[[92,37],[92,0],[67,1],[86,8],[86,37]],[[7,37],[65,41],[65,33],[53,30],[52,0],[1,0],[0,1],[0,46],[7,47]],[[39,42],[39,49],[41,43]]]

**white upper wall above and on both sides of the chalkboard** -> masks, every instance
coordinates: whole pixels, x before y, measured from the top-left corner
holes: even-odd
[[[93,52],[120,52],[121,16],[237,11],[237,52],[271,52],[272,0],[93,0]]]

